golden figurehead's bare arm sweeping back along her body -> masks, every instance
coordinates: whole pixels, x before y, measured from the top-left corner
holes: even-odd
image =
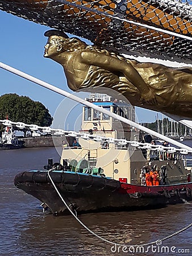
[[[118,76],[125,76],[140,91],[141,98],[145,101],[152,101],[155,98],[155,94],[148,88],[148,85],[137,70],[130,63],[127,63],[126,60],[86,50],[81,52],[81,59],[85,64],[101,67]]]

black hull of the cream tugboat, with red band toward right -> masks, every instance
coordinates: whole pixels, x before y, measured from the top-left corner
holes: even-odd
[[[156,208],[192,200],[192,183],[145,187],[77,172],[53,171],[50,175],[62,198],[77,213]],[[14,183],[45,203],[53,214],[69,214],[47,172],[22,172]]]

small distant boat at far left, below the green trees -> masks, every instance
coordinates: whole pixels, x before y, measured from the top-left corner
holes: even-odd
[[[12,126],[6,126],[0,138],[0,150],[19,149],[24,147],[24,142],[14,135]]]

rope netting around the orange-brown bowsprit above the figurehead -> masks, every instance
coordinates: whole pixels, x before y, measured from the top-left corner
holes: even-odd
[[[191,6],[192,0],[0,0],[1,10],[97,46],[185,63],[192,60]]]

